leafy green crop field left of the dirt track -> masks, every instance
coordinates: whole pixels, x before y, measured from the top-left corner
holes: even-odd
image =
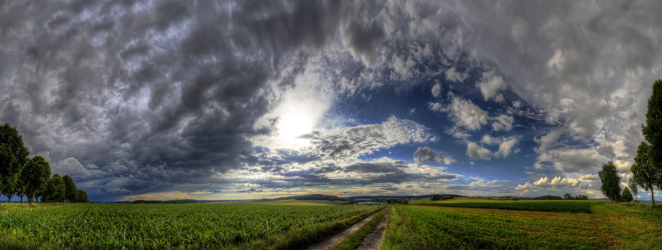
[[[379,208],[73,204],[1,214],[0,249],[293,249],[340,232]]]

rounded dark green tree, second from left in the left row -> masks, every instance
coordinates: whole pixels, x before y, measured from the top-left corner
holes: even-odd
[[[50,165],[41,156],[34,156],[23,168],[21,179],[25,183],[25,194],[32,205],[32,199],[37,191],[44,189],[50,176]]]

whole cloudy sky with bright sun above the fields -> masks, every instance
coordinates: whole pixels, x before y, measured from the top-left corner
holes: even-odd
[[[659,13],[655,0],[0,0],[0,123],[90,201],[602,198],[602,164],[625,187],[643,141]]]

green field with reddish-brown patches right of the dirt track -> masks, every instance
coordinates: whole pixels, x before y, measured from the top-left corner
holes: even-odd
[[[662,210],[590,206],[591,214],[394,206],[382,249],[662,249]]]

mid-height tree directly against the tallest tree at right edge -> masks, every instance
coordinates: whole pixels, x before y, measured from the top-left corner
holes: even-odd
[[[651,191],[651,200],[655,206],[655,197],[653,197],[653,185],[660,188],[659,170],[656,168],[655,162],[651,158],[652,147],[641,142],[637,148],[637,156],[634,158],[634,164],[630,168],[632,172],[632,180],[634,183],[643,188],[644,191]]]

